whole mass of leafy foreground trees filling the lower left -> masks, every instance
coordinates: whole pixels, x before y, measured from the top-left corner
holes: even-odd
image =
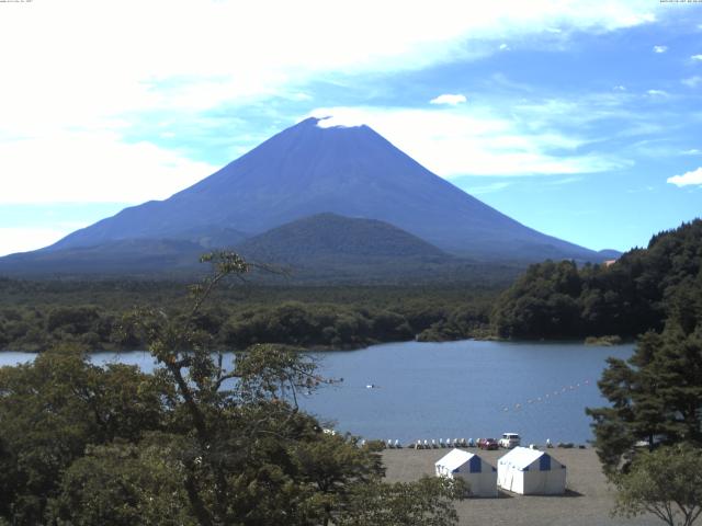
[[[0,526],[455,525],[465,484],[386,483],[382,443],[299,410],[295,393],[329,380],[298,350],[253,345],[223,366],[197,320],[245,264],[213,263],[186,315],[139,309],[154,374],[94,366],[78,344],[0,367]]]

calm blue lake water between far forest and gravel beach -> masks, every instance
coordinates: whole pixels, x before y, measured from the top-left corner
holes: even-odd
[[[632,352],[633,345],[461,341],[313,353],[322,375],[343,381],[302,397],[301,405],[339,431],[404,444],[505,432],[520,433],[522,443],[585,443],[592,437],[585,408],[605,403],[597,388],[605,358]],[[0,353],[0,365],[32,357]],[[92,359],[154,368],[143,352]]]

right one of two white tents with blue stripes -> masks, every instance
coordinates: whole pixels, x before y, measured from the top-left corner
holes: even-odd
[[[516,447],[497,462],[497,485],[523,495],[561,495],[566,467],[545,451]]]

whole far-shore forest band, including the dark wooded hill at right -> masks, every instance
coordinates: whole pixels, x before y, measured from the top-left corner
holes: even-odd
[[[702,261],[702,221],[654,236],[611,265],[570,261],[530,266],[502,281],[417,285],[233,284],[196,322],[218,348],[283,343],[353,348],[378,342],[465,338],[633,339],[660,331]],[[506,289],[506,290],[505,290]],[[186,306],[182,282],[0,279],[0,348],[43,351],[57,343],[93,350],[144,348],[128,316]]]

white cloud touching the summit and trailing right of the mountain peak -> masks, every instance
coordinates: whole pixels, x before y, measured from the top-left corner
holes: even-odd
[[[511,111],[521,110],[512,107]],[[542,113],[544,111],[542,108]],[[489,108],[441,112],[326,107],[314,111],[313,115],[331,115],[319,123],[322,127],[367,124],[444,178],[592,173],[626,164],[604,156],[579,155],[575,150],[587,140],[562,135],[535,119],[500,116]]]

